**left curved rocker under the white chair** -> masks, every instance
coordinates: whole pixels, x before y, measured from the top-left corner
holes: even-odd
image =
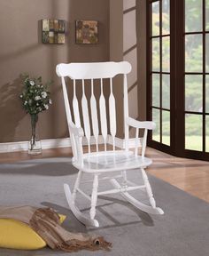
[[[68,184],[64,184],[64,190],[66,194],[66,201],[71,211],[74,213],[75,218],[86,226],[93,226],[98,228],[99,224],[97,220],[91,220],[86,218],[86,216],[74,205],[74,201],[72,200],[71,190]]]

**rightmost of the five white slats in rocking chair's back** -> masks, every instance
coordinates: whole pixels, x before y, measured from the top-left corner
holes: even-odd
[[[113,144],[113,150],[114,150],[115,135],[116,135],[116,108],[115,108],[115,98],[112,92],[112,78],[110,78],[109,116],[110,116],[110,132],[112,135],[112,144]]]

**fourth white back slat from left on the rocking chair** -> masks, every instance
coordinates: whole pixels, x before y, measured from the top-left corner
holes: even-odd
[[[103,79],[100,79],[101,94],[99,98],[99,110],[100,110],[100,121],[101,121],[101,132],[104,139],[104,150],[106,150],[106,139],[107,139],[107,120],[106,120],[106,103],[103,93]]]

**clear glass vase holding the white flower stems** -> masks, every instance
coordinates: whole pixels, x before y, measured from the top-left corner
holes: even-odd
[[[37,122],[38,122],[38,115],[31,115],[32,136],[31,136],[31,140],[28,141],[28,154],[30,155],[38,155],[42,153],[41,140],[39,140],[39,137],[36,131]]]

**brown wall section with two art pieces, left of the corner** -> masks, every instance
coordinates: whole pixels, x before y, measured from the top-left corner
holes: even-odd
[[[66,20],[66,44],[41,43],[42,19]],[[74,20],[99,20],[99,44],[74,43]],[[40,114],[41,139],[68,135],[63,98],[55,67],[59,62],[109,60],[109,1],[0,1],[0,142],[28,140],[29,116],[18,98],[19,74],[53,79],[50,110]]]

